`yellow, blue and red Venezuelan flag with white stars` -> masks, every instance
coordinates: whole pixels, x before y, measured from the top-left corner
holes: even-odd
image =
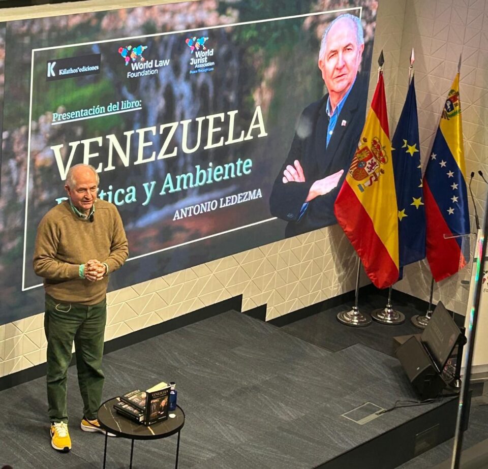
[[[427,260],[436,282],[469,261],[469,210],[459,73],[452,82],[423,176]]]

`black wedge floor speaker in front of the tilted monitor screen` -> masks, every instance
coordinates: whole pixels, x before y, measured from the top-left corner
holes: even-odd
[[[402,363],[408,379],[421,399],[437,397],[446,387],[428,353],[414,336],[396,349],[396,357]]]

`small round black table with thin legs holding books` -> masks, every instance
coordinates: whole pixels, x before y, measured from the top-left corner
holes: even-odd
[[[115,436],[129,438],[132,440],[131,445],[131,465],[132,456],[134,454],[134,440],[157,440],[159,438],[166,438],[167,436],[178,434],[178,441],[176,444],[176,462],[175,469],[178,467],[179,454],[179,434],[183,425],[185,425],[185,413],[176,406],[175,411],[169,411],[169,415],[174,414],[175,417],[168,417],[166,420],[157,422],[153,425],[145,426],[142,423],[134,422],[123,415],[118,414],[113,405],[118,402],[118,398],[114,397],[105,401],[98,410],[98,422],[100,426]],[[103,453],[103,467],[105,469],[105,462],[107,458],[107,440],[108,435],[105,434],[105,450]]]

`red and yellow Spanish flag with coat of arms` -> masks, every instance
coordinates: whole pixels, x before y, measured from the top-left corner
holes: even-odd
[[[393,285],[399,276],[398,208],[381,70],[334,213],[371,282],[378,288]]]

